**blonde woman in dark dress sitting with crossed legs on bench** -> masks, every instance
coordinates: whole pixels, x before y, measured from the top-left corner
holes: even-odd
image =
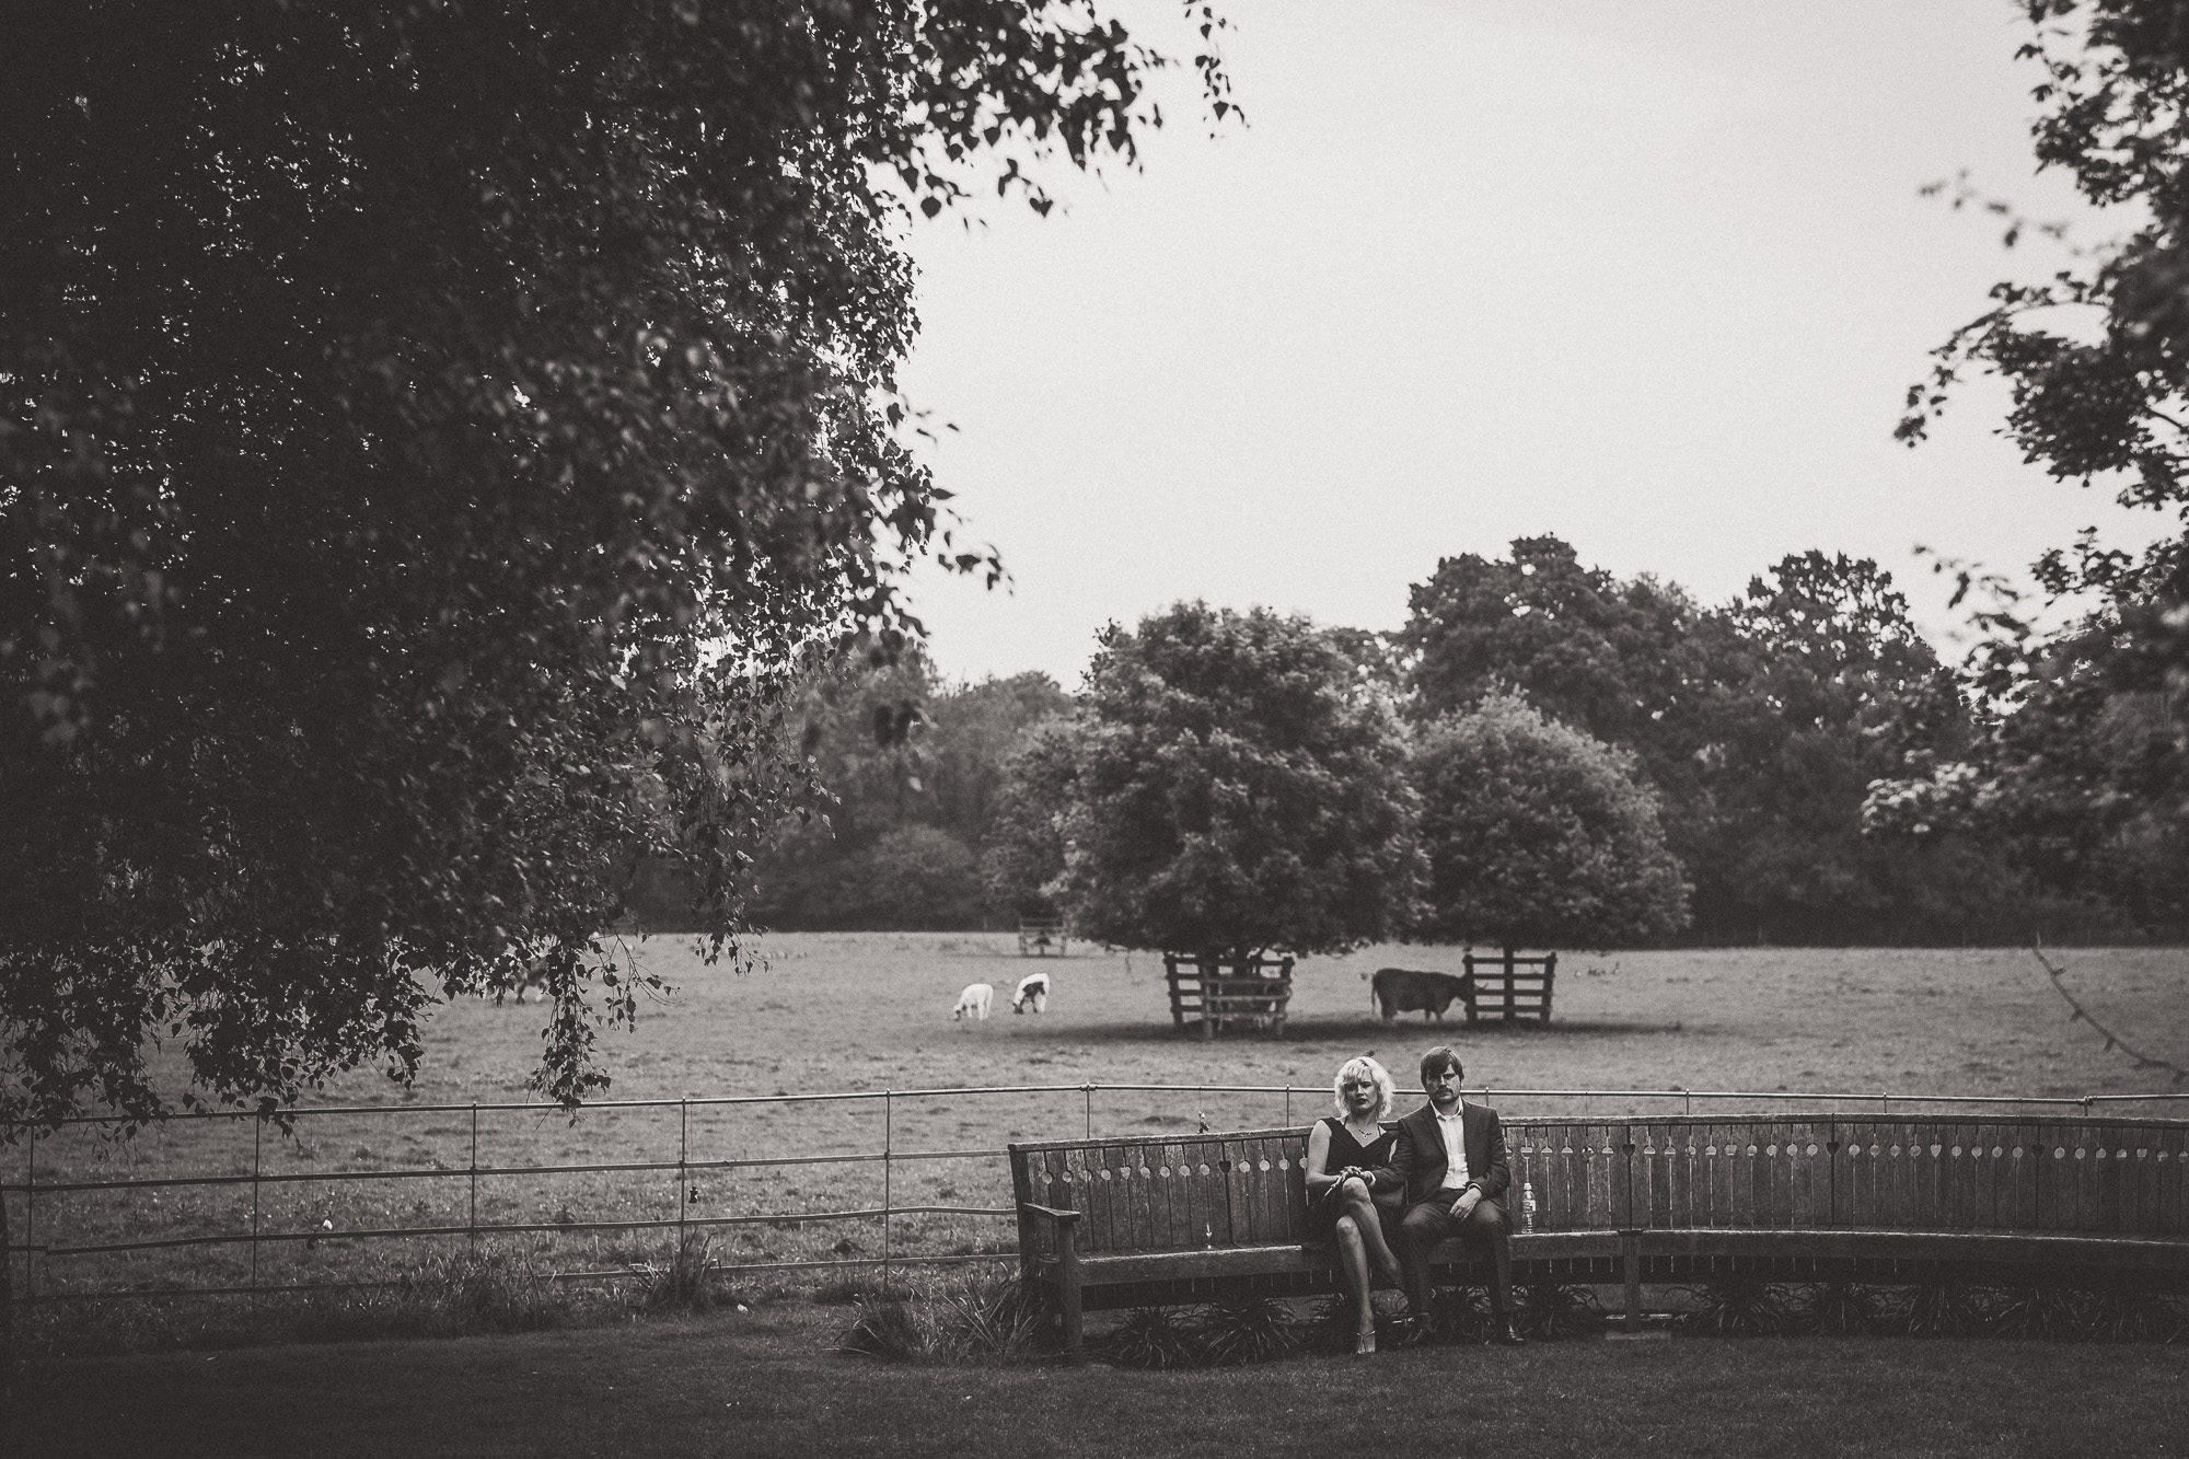
[[[1307,1220],[1337,1244],[1337,1268],[1355,1301],[1353,1352],[1366,1354],[1375,1352],[1375,1306],[1368,1301],[1375,1275],[1401,1279],[1375,1203],[1377,1192],[1399,1190],[1390,1168],[1392,1133],[1381,1124],[1397,1089],[1383,1065],[1362,1056],[1337,1069],[1331,1091],[1337,1115],[1318,1119],[1307,1135]]]

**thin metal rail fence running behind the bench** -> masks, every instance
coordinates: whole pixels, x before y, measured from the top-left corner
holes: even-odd
[[[1808,1104],[1819,1113],[1909,1113],[1924,1106],[1946,1106],[1946,1108],[2060,1108],[2077,1111],[2090,1115],[2097,1106],[2121,1106],[2121,1104],[2156,1104],[2169,1106],[2189,1100],[2182,1093],[2152,1093],[2152,1095],[1911,1095],[1896,1091],[1731,1091],[1731,1089],[1471,1089],[1471,1095],[1499,1104],[1508,1111],[1517,1111],[1530,1102],[1580,1102],[1587,1115],[1591,1106],[1602,1108],[1611,1104],[1646,1104],[1646,1102],[1677,1102],[1683,1113],[1694,1113],[1696,1102],[1712,1106],[1727,1104],[1762,1104],[1773,1108],[1784,1108],[1788,1104]],[[797,1260],[714,1260],[709,1266],[722,1273],[784,1273],[784,1271],[836,1271],[836,1268],[884,1268],[884,1282],[891,1266],[948,1266],[965,1262],[998,1262],[1014,1260],[1009,1249],[998,1247],[996,1251],[974,1251],[974,1253],[933,1253],[933,1251],[904,1251],[897,1249],[893,1238],[897,1233],[895,1222],[900,1218],[917,1216],[970,1216],[983,1220],[1003,1220],[1016,1216],[1011,1205],[983,1205],[976,1200],[948,1200],[948,1198],[900,1198],[897,1190],[897,1168],[919,1161],[1003,1161],[1007,1150],[1003,1146],[974,1146],[974,1148],[895,1148],[897,1135],[897,1111],[911,1102],[933,1102],[946,1098],[1003,1098],[1003,1095],[1029,1095],[1029,1098],[1079,1098],[1079,1124],[1086,1139],[1094,1139],[1094,1104],[1097,1095],[1162,1095],[1169,1108],[1178,1108],[1180,1100],[1193,1100],[1193,1119],[1202,1130],[1208,1128],[1208,1100],[1213,1095],[1221,1098],[1267,1098],[1283,1100],[1283,1124],[1296,1124],[1298,1100],[1305,1098],[1309,1104],[1305,1108],[1320,1111],[1327,1091],[1320,1087],[1300,1084],[1110,1084],[1110,1082],[1075,1082],[1075,1084],[954,1084],[954,1087],[930,1087],[930,1089],[862,1089],[862,1091],[830,1091],[830,1093],[775,1093],[775,1095],[707,1095],[707,1098],[685,1098],[685,1100],[604,1100],[600,1104],[584,1106],[587,1115],[611,1115],[611,1113],[676,1113],[676,1159],[624,1159],[624,1161],[525,1161],[506,1163],[479,1161],[479,1117],[482,1115],[560,1115],[552,1104],[538,1102],[475,1102],[475,1104],[350,1104],[350,1106],[309,1106],[289,1108],[278,1113],[256,1113],[256,1111],[182,1111],[149,1128],[160,1130],[186,1130],[195,1122],[254,1122],[252,1128],[252,1157],[247,1172],[184,1172],[184,1174],[153,1174],[153,1176],[127,1176],[127,1179],[81,1179],[59,1172],[61,1179],[39,1181],[39,1146],[61,1139],[66,1130],[92,1128],[103,1135],[114,1135],[127,1128],[125,1122],[116,1117],[81,1115],[61,1122],[57,1130],[44,1130],[18,1124],[9,1130],[11,1144],[22,1146],[20,1179],[0,1181],[0,1196],[20,1198],[22,1225],[20,1240],[7,1251],[9,1262],[9,1284],[20,1301],[83,1301],[83,1299],[107,1299],[107,1297],[215,1297],[215,1295],[278,1295],[278,1293],[326,1293],[326,1290],[361,1290],[374,1286],[394,1286],[401,1279],[326,1279],[326,1282],[260,1282],[260,1255],[267,1249],[287,1249],[304,1244],[306,1249],[322,1242],[409,1242],[409,1240],[449,1240],[462,1238],[477,1247],[479,1238],[497,1236],[578,1236],[578,1233],[676,1233],[679,1249],[685,1249],[696,1233],[738,1229],[738,1227],[810,1227],[821,1222],[876,1222],[880,1227],[880,1255],[812,1255]],[[773,1154],[773,1157],[696,1157],[692,1152],[692,1117],[694,1113],[707,1111],[731,1111],[731,1108],[753,1108],[753,1106],[816,1106],[816,1104],[867,1104],[880,1106],[880,1148],[869,1150],[843,1150],[843,1152],[821,1152],[821,1154]],[[1140,1104],[1145,1111],[1147,1104]],[[422,1115],[462,1115],[468,1117],[468,1159],[464,1163],[433,1163],[433,1165],[374,1165],[366,1170],[267,1170],[265,1135],[267,1126],[276,1126],[280,1133],[293,1133],[298,1128],[311,1128],[313,1122],[322,1119],[416,1119]],[[1180,1119],[1171,1115],[1173,1119]],[[449,1128],[440,1133],[451,1133]],[[453,1133],[464,1135],[464,1126],[455,1126]],[[1062,1133],[1059,1124],[1049,1115],[1042,1135]],[[1145,1135],[1145,1130],[1138,1130]],[[698,1200],[698,1187],[694,1179],[709,1172],[751,1172],[751,1170],[797,1170],[816,1165],[880,1165],[880,1203],[867,1205],[836,1205],[830,1209],[781,1209],[781,1211],[751,1211],[751,1214],[700,1214],[694,1211]],[[633,1176],[665,1176],[674,1172],[676,1179],[676,1214],[674,1216],[637,1216],[617,1220],[578,1220],[567,1214],[556,1220],[482,1220],[479,1218],[479,1183],[482,1181],[543,1181],[547,1176],[613,1176],[628,1181]],[[269,1229],[263,1220],[263,1194],[280,1187],[296,1185],[328,1185],[339,1187],[359,1181],[464,1181],[464,1205],[462,1220],[440,1220],[429,1225],[387,1225],[387,1227],[341,1227],[335,1229],[331,1222],[306,1229]],[[68,1231],[68,1222],[55,1216],[55,1205],[66,1196],[123,1196],[136,1198],[147,1196],[153,1205],[162,1192],[188,1192],[188,1190],[241,1190],[250,1187],[250,1225],[243,1225],[243,1209],[234,1211],[234,1225],[197,1231],[186,1236],[155,1236],[151,1233],[149,1211],[131,1209],[125,1214],[125,1229],[107,1233],[109,1240],[83,1240]],[[1009,1190],[1009,1179],[996,1181],[998,1194]],[[954,1192],[952,1192],[954,1194]],[[39,1211],[39,1203],[46,1203],[46,1211]],[[420,1207],[422,1209],[422,1207]],[[44,1216],[44,1222],[42,1222]],[[57,1225],[59,1220],[59,1225]],[[144,1229],[127,1229],[129,1222],[140,1222]],[[13,1225],[13,1222],[11,1222]],[[118,1257],[129,1253],[153,1253],[153,1251],[186,1251],[186,1249],[221,1249],[221,1247],[250,1247],[250,1279],[247,1282],[215,1282],[215,1284],[162,1284],[153,1288],[142,1286],[109,1286],[109,1288],[83,1288],[66,1286],[63,1290],[42,1290],[42,1277],[53,1277],[53,1266],[63,1273],[68,1264],[81,1257]],[[637,1266],[622,1268],[576,1268],[552,1273],[558,1282],[584,1282],[584,1279],[615,1279],[635,1275]]]

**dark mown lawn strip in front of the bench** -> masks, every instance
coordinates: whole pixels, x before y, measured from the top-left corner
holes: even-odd
[[[841,1310],[512,1339],[63,1365],[13,1452],[385,1459],[679,1455],[2176,1455],[2189,1347],[1675,1339],[1246,1369],[917,1369],[827,1352]]]

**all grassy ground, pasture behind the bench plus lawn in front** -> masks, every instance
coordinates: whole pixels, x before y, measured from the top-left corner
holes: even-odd
[[[1434,1041],[1458,1043],[1469,1082],[1510,1111],[1561,1113],[1574,1098],[1524,1089],[1751,1089],[1861,1098],[2163,1093],[2066,1008],[2027,953],[2012,951],[1699,951],[1574,955],[1556,1019],[1543,1025],[1397,1027],[1368,1010],[1362,973],[1394,962],[1456,968],[1456,949],[1366,949],[1298,970],[1285,1041],[1204,1045],[1169,1023],[1160,964],[1099,951],[1049,960],[1049,1012],[1014,1016],[1000,997],[1029,966],[1009,938],[801,935],[766,944],[768,968],[733,975],[683,942],[633,953],[676,984],[637,1034],[609,1041],[615,1098],[878,1095],[963,1084],[1062,1084],[1051,1093],[935,1093],[600,1108],[576,1124],[552,1108],[486,1111],[486,1168],[871,1152],[998,1150],[1007,1139],[1158,1133],[1305,1122],[1331,1069],[1375,1052],[1401,1082]],[[2189,1062],[2189,955],[2077,951],[2075,995],[2158,1056]],[[998,986],[998,1012],[954,1025],[968,981]],[[260,1183],[265,1233],[385,1225],[462,1225],[471,1211],[471,1102],[523,1102],[538,1049],[536,1006],[460,1003],[427,1030],[409,1093],[352,1078],[313,1108],[370,1104],[387,1115],[306,1115],[296,1135],[254,1122],[186,1122],[136,1141],[39,1141],[39,1181],[230,1172],[304,1176]],[[1081,1084],[1169,1084],[1182,1093]],[[1294,1084],[1226,1095],[1195,1084]],[[1677,1100],[1675,1100],[1677,1104]],[[458,1106],[458,1108],[436,1108]],[[1664,1108],[1605,1100],[1596,1111]],[[1703,1104],[1714,1108],[1712,1104]],[[887,1113],[884,1113],[887,1108]],[[2150,1106],[2145,1106],[2150,1108]],[[2171,1106],[2180,1111],[2180,1106]],[[260,1141],[254,1152],[254,1139]],[[28,1159],[26,1150],[11,1161]],[[333,1170],[440,1168],[442,1176],[328,1183]],[[20,1170],[20,1165],[15,1165]],[[895,1161],[897,1205],[1003,1205],[1000,1157]],[[784,1214],[876,1205],[878,1163],[705,1168],[683,1192],[674,1170],[488,1174],[479,1220],[556,1222]],[[42,1198],[37,1240],[142,1240],[250,1229],[252,1185],[153,1187]],[[24,1211],[13,1209],[22,1233]],[[900,1218],[895,1251],[985,1253],[1011,1244],[987,1216]],[[738,1225],[711,1236],[722,1262],[852,1260],[878,1251],[878,1222]],[[151,1299],[37,1303],[24,1336],[35,1363],[11,1420],[37,1455],[2163,1455],[2182,1448],[2189,1347],[2040,1345],[1909,1339],[1675,1339],[1550,1343],[1519,1352],[1438,1347],[1368,1363],[1294,1358],[1211,1371],[1105,1367],[906,1367],[832,1352],[852,1308],[806,1301],[806,1286],[736,1277],[749,1306],[630,1321],[630,1306],[576,1314],[530,1279],[541,1271],[663,1262],[661,1233],[552,1229],[499,1238],[466,1264],[462,1238],[267,1244],[260,1284],[385,1279],[425,1268],[471,1284],[458,1308],[486,1328],[578,1321],[552,1332],[464,1339],[313,1341],[357,1332],[440,1332],[431,1301],[344,1308],[348,1299]],[[438,1260],[438,1266],[436,1266]],[[530,1275],[528,1275],[530,1273]],[[18,1271],[20,1275],[20,1271]],[[48,1260],[46,1293],[70,1286],[247,1284],[245,1247]],[[871,1279],[871,1275],[867,1277]],[[372,1297],[379,1299],[379,1297]],[[359,1297],[357,1301],[370,1301]],[[558,1306],[563,1303],[563,1306]],[[204,1317],[219,1308],[217,1319]],[[77,1325],[70,1314],[116,1314]],[[123,1314],[127,1310],[127,1314]],[[390,1319],[390,1314],[394,1314]],[[462,1312],[455,1328],[464,1328]],[[90,1336],[88,1343],[70,1336]],[[239,1347],[236,1343],[245,1343]],[[112,1356],[55,1358],[66,1349]],[[112,1352],[153,1347],[162,1352]],[[177,1349],[179,1347],[179,1349]],[[208,1349],[210,1347],[210,1349]],[[1394,1395],[1408,1395],[1397,1402]],[[0,1446],[4,1448],[4,1446]]]

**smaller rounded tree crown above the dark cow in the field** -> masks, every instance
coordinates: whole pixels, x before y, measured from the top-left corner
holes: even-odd
[[[1506,946],[1637,942],[1688,920],[1633,758],[1508,694],[1421,732],[1423,931]]]

